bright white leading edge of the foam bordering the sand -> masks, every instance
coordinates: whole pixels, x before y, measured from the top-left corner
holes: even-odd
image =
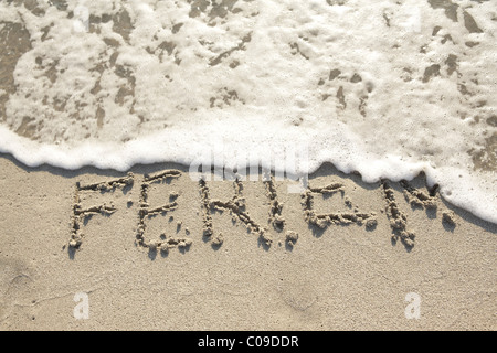
[[[7,138],[8,146],[18,146],[19,136],[4,128],[2,130],[2,127],[0,127],[0,132]],[[180,131],[176,132],[178,132],[177,136],[181,136]],[[176,139],[173,136],[175,133],[168,138],[165,136],[158,140],[160,141],[158,143],[163,145],[172,141],[173,149],[181,149],[181,143],[178,142],[181,138]],[[219,146],[211,150],[212,146],[210,146],[208,140],[204,140],[201,143],[197,143],[191,151],[186,152],[181,160],[177,160],[175,153],[168,150],[145,153],[145,150],[139,148],[140,140],[134,141],[133,143],[128,142],[128,145],[124,145],[123,149],[118,149],[113,145],[102,145],[97,149],[93,145],[85,145],[76,149],[68,149],[67,151],[60,151],[56,146],[51,145],[39,145],[36,149],[36,142],[24,138],[21,138],[21,149],[13,151],[11,147],[0,148],[0,156],[11,156],[25,168],[33,169],[50,165],[57,170],[77,172],[86,168],[95,168],[99,171],[109,171],[112,174],[118,172],[125,175],[128,171],[136,170],[137,168],[160,164],[183,167],[212,165],[212,168],[218,169],[221,168],[220,165],[228,164],[228,158],[231,161],[231,165],[245,165],[244,169],[246,171],[252,170],[254,168],[253,165],[260,165],[260,170],[265,168],[285,172],[292,171],[300,175],[309,175],[317,172],[324,165],[332,165],[334,169],[346,175],[358,173],[362,175],[364,182],[370,184],[374,184],[381,180],[409,181],[416,178],[424,178],[426,184],[440,185],[440,193],[454,206],[464,208],[486,222],[497,224],[496,213],[494,212],[495,207],[493,206],[495,193],[493,193],[493,182],[488,175],[483,178],[478,172],[472,174],[464,170],[445,169],[442,171],[442,169],[436,168],[430,161],[406,162],[401,157],[392,156],[385,156],[381,160],[374,160],[372,164],[368,164],[367,159],[362,159],[361,161],[338,159],[336,162],[328,161],[322,156],[309,159],[309,151],[306,150],[309,145],[308,140],[303,145],[297,143],[298,148],[292,149],[292,151],[284,151],[285,149],[282,146],[281,148],[271,146],[267,156],[262,153],[258,157],[245,151],[248,145],[242,146],[241,150],[237,151],[239,154],[232,152],[231,154],[224,156],[221,153],[222,150],[218,149]],[[208,148],[202,148],[202,146],[208,146]],[[277,152],[279,149],[283,152]],[[134,156],[134,151],[137,150],[140,152]],[[316,154],[316,151],[314,152]],[[330,151],[328,150],[327,152]],[[124,158],[124,156],[130,154],[134,156],[131,159]],[[81,156],[94,157],[81,159]],[[363,165],[367,165],[367,168]],[[389,171],[381,172],[385,165],[389,165]],[[222,167],[222,170],[232,175],[228,167]],[[479,180],[477,175],[483,179]],[[485,207],[482,204],[489,206]]]

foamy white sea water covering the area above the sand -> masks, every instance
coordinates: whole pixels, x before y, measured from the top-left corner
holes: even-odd
[[[0,23],[28,43],[1,62],[0,151],[28,165],[306,149],[300,172],[424,171],[497,223],[495,1],[0,1]]]

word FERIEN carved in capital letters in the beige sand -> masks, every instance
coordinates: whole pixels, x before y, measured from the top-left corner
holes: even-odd
[[[160,250],[162,253],[168,253],[171,248],[188,249],[192,239],[188,236],[175,237],[166,233],[161,233],[158,239],[146,239],[147,233],[147,222],[151,217],[156,216],[167,216],[168,213],[177,210],[178,203],[178,192],[172,191],[169,193],[169,202],[151,207],[149,204],[150,188],[154,184],[169,183],[173,179],[179,179],[182,176],[182,172],[179,170],[170,169],[154,175],[145,175],[141,183],[139,184],[139,205],[138,205],[138,222],[136,227],[136,238],[135,243],[139,247],[148,248],[151,252]],[[74,191],[74,204],[72,206],[71,215],[71,238],[70,247],[73,249],[78,249],[84,239],[83,228],[87,224],[88,220],[93,215],[106,215],[110,216],[118,208],[113,202],[109,204],[103,203],[99,205],[92,205],[83,207],[82,195],[85,193],[113,193],[117,189],[133,189],[136,184],[136,176],[133,173],[128,173],[124,178],[93,183],[88,185],[82,185],[76,183]],[[279,202],[275,179],[273,175],[268,175],[262,181],[265,186],[265,194],[267,196],[266,204],[268,205],[268,222],[275,231],[283,232],[286,231],[286,244],[289,247],[294,247],[298,239],[298,234],[292,229],[286,228],[286,221],[282,214],[283,203]],[[427,192],[421,191],[411,186],[406,181],[400,183],[403,188],[403,194],[408,203],[413,207],[421,207],[426,210],[436,210],[436,192],[437,185],[429,189]],[[200,194],[200,206],[202,210],[202,223],[203,223],[203,238],[205,242],[212,242],[214,248],[222,246],[224,238],[222,233],[214,232],[212,215],[214,212],[228,212],[233,221],[233,224],[241,223],[247,227],[251,233],[258,236],[261,243],[266,247],[271,247],[273,238],[269,234],[267,226],[263,226],[257,223],[246,211],[245,199],[243,197],[243,182],[240,179],[233,181],[234,195],[228,200],[222,201],[211,197],[210,186],[204,179],[199,179],[198,190]],[[382,180],[380,183],[380,191],[384,199],[384,212],[390,227],[392,229],[392,240],[401,240],[406,248],[412,248],[414,246],[414,232],[408,229],[408,216],[405,213],[400,211],[398,202],[394,197],[393,188],[389,185],[388,181]],[[341,193],[346,205],[348,206],[348,212],[329,212],[319,213],[315,207],[314,199],[317,195],[331,196],[336,193]],[[332,182],[325,186],[307,188],[300,194],[300,204],[303,210],[303,217],[311,227],[318,229],[325,229],[330,225],[349,225],[357,224],[359,226],[364,226],[368,231],[374,231],[378,224],[376,212],[363,212],[357,206],[353,206],[352,202],[346,194],[345,184],[341,182]],[[131,200],[128,200],[128,207],[133,204]],[[173,216],[169,216],[169,221],[172,221]],[[446,229],[453,229],[455,227],[454,214],[452,211],[444,211],[442,222]],[[178,228],[181,227],[181,222],[178,222]],[[186,231],[187,235],[190,232]],[[149,238],[149,236],[147,236]]]

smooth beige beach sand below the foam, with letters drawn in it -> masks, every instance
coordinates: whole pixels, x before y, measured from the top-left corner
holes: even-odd
[[[497,328],[497,226],[430,196],[422,176],[364,184],[325,165],[300,194],[288,181],[202,186],[177,164],[131,172],[126,184],[0,156],[0,329]],[[74,317],[80,292],[88,319]]]

